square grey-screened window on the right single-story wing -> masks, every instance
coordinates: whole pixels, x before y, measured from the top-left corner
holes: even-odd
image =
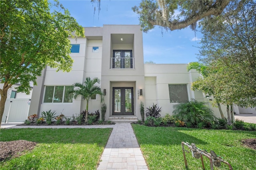
[[[169,84],[170,103],[184,103],[188,101],[186,84]]]

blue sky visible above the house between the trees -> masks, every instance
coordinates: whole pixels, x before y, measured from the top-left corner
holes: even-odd
[[[78,24],[83,27],[102,27],[104,24],[140,24],[138,14],[132,11],[133,6],[139,6],[140,0],[101,0],[100,13],[97,4],[90,0],[60,0]],[[156,26],[148,33],[143,33],[144,61],[155,63],[189,63],[198,61],[201,34],[190,28],[166,32]]]

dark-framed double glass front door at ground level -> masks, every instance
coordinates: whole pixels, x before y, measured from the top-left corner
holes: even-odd
[[[133,87],[113,87],[113,115],[134,115]]]

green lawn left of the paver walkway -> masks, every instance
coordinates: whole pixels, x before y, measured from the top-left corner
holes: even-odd
[[[1,129],[1,141],[28,140],[36,147],[0,163],[1,170],[94,170],[112,128]]]

